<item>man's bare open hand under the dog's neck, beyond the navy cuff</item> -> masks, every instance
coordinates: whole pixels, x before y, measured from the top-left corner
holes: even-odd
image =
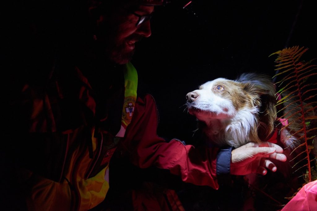
[[[258,173],[265,175],[266,169],[276,171],[276,166],[268,158],[286,161],[283,149],[271,142],[253,143],[250,142],[232,150],[230,174],[246,175]]]

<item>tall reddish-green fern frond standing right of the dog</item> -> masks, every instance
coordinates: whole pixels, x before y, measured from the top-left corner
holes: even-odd
[[[279,72],[273,78],[280,77],[280,80],[275,83],[279,88],[276,95],[281,95],[281,99],[276,103],[276,107],[279,108],[278,120],[288,119],[288,124],[281,127],[281,130],[288,131],[285,139],[292,138],[291,140],[294,140],[292,145],[298,143],[291,152],[291,154],[295,151],[297,153],[292,161],[305,155],[304,158],[296,161],[292,168],[307,160],[307,163],[296,171],[307,167],[310,182],[310,152],[313,147],[311,141],[316,136],[317,130],[317,101],[315,100],[317,65],[313,64],[315,59],[308,62],[301,61],[301,57],[307,50],[308,48],[305,47],[294,46],[272,53],[270,56],[277,54],[275,62],[278,64],[275,65],[275,71]],[[282,84],[285,85],[282,86]],[[281,106],[283,107],[280,108]]]

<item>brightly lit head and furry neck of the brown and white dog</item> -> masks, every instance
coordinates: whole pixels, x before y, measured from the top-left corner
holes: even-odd
[[[217,78],[189,92],[187,108],[211,144],[237,148],[268,140],[278,124],[275,93],[268,76],[244,73],[236,80]],[[296,137],[288,134],[288,128],[280,133],[282,147],[294,148]]]

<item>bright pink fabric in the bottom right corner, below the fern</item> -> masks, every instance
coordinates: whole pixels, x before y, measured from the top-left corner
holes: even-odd
[[[281,211],[315,211],[317,210],[317,180],[310,182],[289,201]]]

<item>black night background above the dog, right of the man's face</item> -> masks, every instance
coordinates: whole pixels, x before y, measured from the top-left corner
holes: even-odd
[[[317,57],[314,1],[172,1],[157,7],[152,36],[136,46],[132,63],[139,90],[156,99],[158,133],[191,143],[195,118],[185,96],[215,78],[235,79],[243,72],[275,75],[276,55],[304,46],[304,59]]]

